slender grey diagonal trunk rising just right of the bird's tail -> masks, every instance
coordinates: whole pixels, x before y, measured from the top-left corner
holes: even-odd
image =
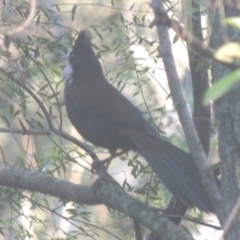
[[[152,0],[152,7],[155,15],[157,15],[159,12],[158,9],[163,9],[163,3],[160,0]],[[205,153],[203,151],[202,145],[199,141],[196,129],[187,108],[187,104],[183,95],[182,86],[177,74],[172,54],[172,47],[169,39],[168,29],[163,26],[157,26],[157,30],[161,44],[161,56],[164,62],[173,102],[175,104],[180,122],[182,124],[191,154],[194,157],[194,160],[196,161],[196,164],[198,166],[204,187],[207,190],[210,198],[215,203],[214,206],[216,206],[220,202],[220,194],[215,184],[213,174],[209,170],[208,161],[206,159]]]

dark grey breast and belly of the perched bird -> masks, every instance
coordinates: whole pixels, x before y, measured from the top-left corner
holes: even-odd
[[[77,103],[67,91],[65,105],[71,123],[85,140],[110,152],[133,149],[126,129],[104,118],[98,109],[89,109],[83,102]]]

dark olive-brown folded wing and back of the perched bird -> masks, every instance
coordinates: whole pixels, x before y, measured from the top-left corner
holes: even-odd
[[[156,135],[153,127],[118,90],[107,81],[87,83],[68,92],[76,111],[90,115],[96,121],[136,129],[144,134]],[[77,113],[76,113],[77,114]]]

